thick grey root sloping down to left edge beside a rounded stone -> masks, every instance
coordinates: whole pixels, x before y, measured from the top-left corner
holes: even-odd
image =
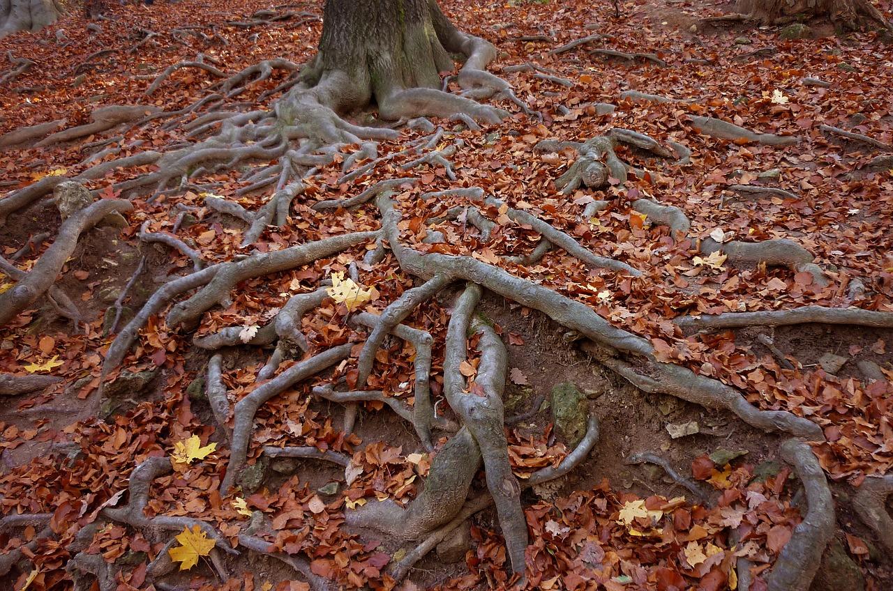
[[[28,275],[20,279],[14,287],[0,294],[0,326],[13,320],[46,290],[53,286],[59,272],[75,246],[78,238],[88,229],[112,212],[129,212],[133,206],[120,199],[104,199],[89,205],[63,222],[54,243],[38,259]]]

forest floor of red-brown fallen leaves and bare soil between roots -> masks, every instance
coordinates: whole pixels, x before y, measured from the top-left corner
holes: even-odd
[[[149,6],[115,6],[106,20],[95,21],[98,28],[88,29],[90,21],[71,14],[38,33],[0,39],[0,54],[33,61],[8,79],[4,73],[15,64],[0,66],[0,144],[4,134],[23,126],[65,120],[59,129],[68,129],[88,123],[103,105],[145,105],[146,114],[153,107],[167,112],[188,107],[208,94],[215,81],[208,71],[175,71],[146,96],[153,80],[177,62],[204,60],[228,75],[278,57],[305,62],[321,31],[321,4],[305,1],[282,8],[263,0],[156,0]],[[104,507],[125,505],[128,497],[122,494],[138,463],[171,454],[178,442],[193,435],[202,445],[216,443],[216,449],[154,479],[147,515],[203,520],[237,550],[239,535],[251,529],[276,552],[306,557],[314,575],[338,588],[509,585],[505,547],[491,509],[472,519],[470,538],[456,541],[456,552],[432,551],[396,584],[388,569],[412,545],[346,528],[346,507],[385,498],[406,502],[417,495],[430,466],[430,454],[413,425],[395,420],[384,404],[364,404],[346,434],[343,425],[351,420],[345,414],[355,409],[313,396],[313,379],[275,396],[255,417],[248,463],[258,468],[242,480],[240,493],[227,496],[218,492],[229,458],[227,436],[216,427],[204,394],[204,376],[215,351],[194,345],[194,334],[169,328],[163,314],[156,315],[121,368],[102,374],[114,336],[109,326],[116,301],[121,304],[116,329],[121,329],[158,287],[192,266],[178,250],[141,241],[144,224],[152,232],[176,235],[204,265],[211,265],[252,248],[272,252],[378,229],[373,204],[321,212],[312,206],[356,195],[381,180],[411,176],[419,180],[398,187],[396,199],[404,212],[401,229],[417,249],[469,254],[494,264],[505,256],[530,254],[538,234],[508,220],[504,210],[488,211],[497,225],[484,239],[467,211],[452,221],[433,220],[463,205],[461,200],[426,203],[421,198],[430,191],[482,187],[512,207],[550,221],[593,252],[643,271],[633,279],[593,270],[563,250],[553,250],[536,264],[511,268],[645,337],[661,361],[737,387],[756,408],[789,411],[819,425],[825,441],[812,445],[837,504],[835,538],[843,555],[836,568],[842,572],[852,567],[855,573],[838,572],[842,579],[818,581],[814,588],[893,588],[893,560],[851,504],[866,477],[893,469],[893,329],[807,323],[687,334],[673,322],[685,315],[804,305],[853,305],[893,313],[893,159],[878,158],[893,154],[890,46],[870,33],[834,36],[821,23],[811,23],[805,38],[783,39],[781,28],[701,21],[728,12],[729,4],[636,0],[620,4],[619,18],[609,3],[440,4],[460,29],[497,46],[490,70],[541,112],[541,121],[507,102],[500,106],[513,114],[498,125],[481,124],[482,129],[432,120],[446,129],[443,143],[435,146],[455,146],[451,171],[439,163],[406,171],[400,164],[417,154],[405,154],[342,182],[341,162],[323,165],[305,180],[307,188],[293,202],[290,221],[268,229],[247,249],[239,246],[245,221],[208,207],[203,194],[230,197],[246,210],[258,208],[271,187],[238,195],[239,188],[250,184],[241,178],[246,169],[205,173],[190,179],[196,188],[166,191],[151,203],[146,198],[151,194],[137,196],[125,215],[126,226],[106,225],[80,237],[55,282],[73,300],[82,322],[72,328],[71,320],[38,300],[0,329],[0,373],[59,378],[46,389],[3,397],[0,517],[48,513],[52,519],[26,528],[15,527],[13,520],[0,522],[0,554],[36,541],[21,560],[0,572],[0,588],[83,584],[78,569],[71,568],[72,540]],[[252,22],[252,15],[263,9],[293,14]],[[889,5],[881,9],[891,16]],[[552,53],[594,33],[602,37]],[[654,55],[618,59],[592,53],[594,49]],[[541,69],[511,69],[527,62]],[[234,109],[266,104],[270,98],[263,93],[288,74],[273,70],[269,79],[248,84],[230,103]],[[805,79],[827,84],[816,86]],[[630,90],[672,100],[622,96]],[[602,112],[597,104],[615,109]],[[0,190],[27,187],[47,176],[73,177],[87,168],[84,161],[91,154],[107,148],[112,150],[102,156],[105,160],[163,150],[187,138],[184,125],[195,115],[173,119],[173,125],[171,118],[159,117],[72,141],[5,149],[0,153]],[[773,146],[709,137],[692,123],[704,116],[799,141]],[[349,118],[382,125],[374,112],[351,113]],[[872,137],[879,144],[841,137],[820,129],[822,125]],[[559,193],[554,181],[575,156],[566,150],[535,151],[538,142],[584,141],[612,128],[632,129],[663,145],[687,146],[690,162],[672,162],[622,145],[618,155],[646,171],[643,178],[604,190],[580,187],[570,195]],[[378,154],[397,154],[423,137],[420,129],[402,129],[397,139],[381,142]],[[456,139],[462,141],[455,144]],[[89,179],[87,186],[113,197],[113,184],[133,174],[133,169],[116,169]],[[739,186],[749,190],[730,188]],[[674,236],[631,209],[630,202],[640,197],[680,208],[690,221],[688,236]],[[608,204],[591,217],[583,216],[595,200]],[[29,271],[61,224],[50,200],[10,213],[0,227],[0,255]],[[434,229],[443,233],[445,243],[422,242]],[[784,266],[736,267],[722,257],[698,257],[699,241],[717,232],[720,242],[794,240],[814,255],[828,285],[819,285],[811,272]],[[44,233],[48,237],[29,246]],[[290,295],[313,291],[332,273],[355,271],[351,263],[361,261],[366,250],[360,244],[296,270],[247,279],[231,294],[229,305],[204,313],[197,334],[263,325]],[[363,305],[368,311],[380,313],[413,287],[413,279],[392,257],[358,266],[358,282],[375,288]],[[0,292],[12,286],[12,279],[0,275]],[[447,414],[440,390],[442,337],[451,303],[442,295],[404,320],[435,337],[431,393],[436,408]],[[313,350],[360,342],[357,329],[346,320],[348,312],[343,303],[327,299],[304,315],[301,329]],[[766,588],[761,575],[772,568],[804,512],[801,488],[780,456],[782,435],[755,429],[722,409],[643,392],[593,360],[586,347],[578,346],[576,335],[542,312],[489,292],[480,312],[508,345],[505,413],[522,417],[506,432],[512,468],[522,481],[534,470],[555,466],[572,449],[580,407],[599,421],[598,443],[575,470],[522,493],[531,534],[529,588],[733,589],[740,577],[735,572],[739,558],[752,567],[750,588]],[[764,344],[766,337],[772,348]],[[472,346],[477,346],[474,339]],[[223,351],[222,382],[230,402],[236,402],[255,387],[267,354],[254,345]],[[388,341],[376,356],[370,387],[411,404],[414,354],[403,341]],[[474,375],[476,363],[472,359],[467,376]],[[351,371],[351,362],[341,363],[335,377],[349,382]],[[567,392],[581,399],[565,406]],[[671,437],[673,429],[689,429],[689,434]],[[346,454],[352,458],[348,474],[337,463],[262,455],[263,446],[283,445]],[[669,462],[682,478],[672,479],[652,463],[630,463],[631,455],[648,452]],[[695,490],[680,485],[682,479]],[[480,476],[473,487],[483,489]],[[644,512],[643,507],[651,513],[637,520],[635,510]],[[41,532],[47,522],[51,535]],[[115,564],[112,577],[117,579],[111,588],[308,588],[305,575],[285,562],[248,551],[235,555],[214,550],[213,560],[202,558],[191,570],[153,576],[163,570],[158,557],[167,552],[170,536],[111,521],[90,534],[83,552]],[[820,572],[820,579],[833,575]]]

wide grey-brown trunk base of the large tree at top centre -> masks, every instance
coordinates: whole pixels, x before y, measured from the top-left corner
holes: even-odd
[[[336,112],[375,102],[385,119],[464,112],[499,121],[492,108],[440,92],[440,72],[454,68],[451,53],[463,54],[463,71],[475,73],[496,57],[487,41],[456,29],[436,0],[327,0],[319,53],[301,78]],[[463,88],[479,84],[462,82],[460,74]]]

